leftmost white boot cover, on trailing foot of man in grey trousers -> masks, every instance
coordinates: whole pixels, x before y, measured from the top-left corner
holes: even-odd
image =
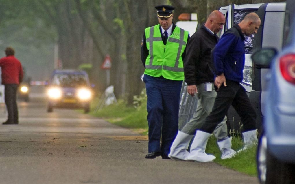
[[[185,160],[189,152],[186,150],[194,135],[189,135],[178,131],[170,148],[169,158],[173,160]]]

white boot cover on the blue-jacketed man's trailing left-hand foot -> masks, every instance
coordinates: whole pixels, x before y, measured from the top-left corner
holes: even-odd
[[[187,156],[186,160],[194,160],[197,162],[212,162],[216,157],[205,153],[207,142],[210,136],[210,133],[197,130],[194,141],[191,144],[191,152]]]

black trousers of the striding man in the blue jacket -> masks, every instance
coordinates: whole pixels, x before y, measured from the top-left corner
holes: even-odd
[[[243,130],[256,129],[256,113],[250,103],[246,90],[239,82],[227,80],[227,86],[222,85],[217,90],[217,96],[214,102],[212,112],[206,118],[200,128],[201,131],[213,133],[215,127],[220,123],[227,114],[230,105],[234,107],[241,117]]]

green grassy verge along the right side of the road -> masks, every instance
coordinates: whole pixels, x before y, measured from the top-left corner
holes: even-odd
[[[148,122],[146,110],[146,96],[142,92],[139,96],[134,97],[133,107],[128,107],[124,100],[119,100],[116,104],[105,106],[100,110],[96,110],[95,106],[98,100],[93,102],[93,110],[91,115],[101,117],[104,120],[115,125],[130,128],[132,131],[142,135],[148,135]],[[239,150],[243,146],[242,138],[238,136],[238,132],[232,133],[232,149]],[[257,176],[256,172],[256,146],[250,147],[248,150],[237,154],[234,158],[221,160],[221,152],[216,142],[216,138],[209,138],[206,152],[216,156],[214,160],[224,167],[237,170],[250,176]]]

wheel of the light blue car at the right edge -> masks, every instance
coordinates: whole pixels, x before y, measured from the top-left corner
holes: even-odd
[[[295,165],[285,163],[274,157],[267,149],[266,136],[263,133],[258,141],[256,161],[260,183],[294,183]]]

